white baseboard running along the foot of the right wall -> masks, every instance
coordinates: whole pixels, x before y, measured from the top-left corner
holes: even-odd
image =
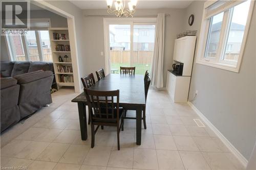
[[[205,124],[218,136],[221,141],[226,145],[229,151],[237,157],[237,159],[242,163],[242,165],[246,168],[248,164],[248,160],[227,140],[227,138],[214,126],[210,123],[210,121],[201,113],[196,106],[194,106],[191,102],[187,102],[187,104],[198,114],[198,116],[205,122]]]

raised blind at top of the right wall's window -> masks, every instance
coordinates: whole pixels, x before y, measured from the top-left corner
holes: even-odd
[[[248,0],[250,1],[250,0]],[[216,3],[210,5],[209,7],[206,8],[206,14],[205,18],[208,19],[211,16],[217,15],[223,11],[227,11],[230,8],[239,5],[245,1],[217,1]]]

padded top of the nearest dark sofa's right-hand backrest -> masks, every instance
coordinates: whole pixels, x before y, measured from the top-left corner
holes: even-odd
[[[17,84],[25,84],[29,82],[33,82],[42,78],[50,77],[53,76],[52,71],[34,71],[34,72],[29,72],[27,74],[15,76],[14,78],[17,79]]]

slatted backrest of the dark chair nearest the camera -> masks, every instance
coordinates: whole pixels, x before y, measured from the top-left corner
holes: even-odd
[[[119,120],[119,90],[95,91],[84,88],[92,121]]]

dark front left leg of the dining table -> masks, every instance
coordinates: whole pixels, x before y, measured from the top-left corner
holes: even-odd
[[[80,122],[80,131],[82,140],[87,139],[87,119],[86,119],[86,105],[82,102],[78,102],[78,113]]]

